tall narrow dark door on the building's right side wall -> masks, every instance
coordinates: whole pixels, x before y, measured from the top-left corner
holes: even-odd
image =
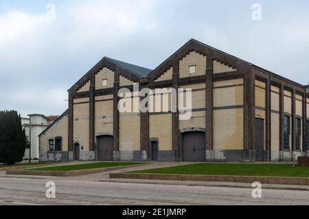
[[[255,161],[264,162],[264,119],[255,118]]]

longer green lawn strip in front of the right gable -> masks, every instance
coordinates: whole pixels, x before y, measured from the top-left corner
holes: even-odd
[[[174,175],[227,175],[260,177],[309,177],[309,168],[290,164],[193,164],[170,168],[140,170],[135,173]]]

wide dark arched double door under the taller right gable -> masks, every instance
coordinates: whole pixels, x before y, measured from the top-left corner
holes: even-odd
[[[205,162],[205,133],[183,133],[183,161]]]

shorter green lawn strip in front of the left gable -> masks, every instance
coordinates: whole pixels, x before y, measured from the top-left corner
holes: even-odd
[[[29,171],[72,171],[72,170],[90,170],[97,168],[108,168],[108,167],[116,167],[116,166],[130,166],[137,164],[145,164],[145,163],[137,163],[137,162],[101,162],[101,163],[93,163],[93,164],[78,164],[78,165],[66,165],[66,166],[50,166],[45,168],[35,168]]]

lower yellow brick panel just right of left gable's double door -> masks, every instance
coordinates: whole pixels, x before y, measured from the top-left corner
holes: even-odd
[[[119,150],[140,151],[140,118],[137,114],[119,116]]]

